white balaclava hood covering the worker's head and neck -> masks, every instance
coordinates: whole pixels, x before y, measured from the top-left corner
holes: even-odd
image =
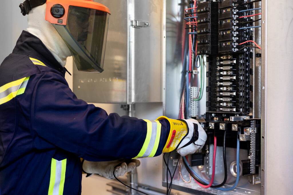
[[[31,34],[38,37],[49,49],[56,60],[64,67],[66,58],[71,53],[53,25],[45,20],[46,4],[35,7],[28,13],[28,28]]]

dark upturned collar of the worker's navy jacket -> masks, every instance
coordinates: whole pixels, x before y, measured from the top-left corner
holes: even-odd
[[[67,71],[66,68],[62,67],[62,65],[54,58],[51,52],[38,37],[24,30],[18,38],[12,53],[35,56],[48,67],[62,73],[63,76],[65,76],[65,71]]]

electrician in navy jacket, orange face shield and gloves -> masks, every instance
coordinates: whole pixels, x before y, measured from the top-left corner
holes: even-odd
[[[0,66],[1,195],[81,194],[82,168],[111,179],[114,170],[119,176],[138,166],[137,158],[173,150],[184,156],[205,144],[196,120],[108,115],[69,89],[68,56],[79,71],[103,71],[107,7],[91,0],[20,7],[28,29]],[[134,160],[116,167],[123,159]]]

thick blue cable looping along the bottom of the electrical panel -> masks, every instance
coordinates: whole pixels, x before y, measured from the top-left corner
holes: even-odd
[[[239,177],[240,177],[240,167],[239,167],[239,161],[240,161],[240,157],[239,157],[239,152],[240,152],[240,141],[239,139],[237,139],[237,152],[236,152],[236,169],[237,169],[237,175],[236,175],[236,181],[234,186],[230,187],[230,188],[216,188],[222,191],[231,191],[233,190],[239,182]],[[183,156],[183,161],[187,164],[187,166],[189,167],[189,163],[186,160],[186,157]],[[214,166],[214,165],[213,165]],[[205,182],[205,183],[209,183],[207,180],[202,179],[202,177],[200,177],[192,168],[189,169],[198,179],[200,179],[201,181]]]

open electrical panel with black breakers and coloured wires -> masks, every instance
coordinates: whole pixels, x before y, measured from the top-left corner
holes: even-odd
[[[255,63],[261,59],[261,2],[182,5],[188,19],[182,24],[188,34],[182,36],[182,54],[189,60],[182,60],[179,116],[197,119],[208,138],[202,149],[180,160],[173,180],[163,175],[163,186],[172,181],[173,189],[191,194],[261,194],[260,101],[255,101],[260,99]],[[178,153],[171,159],[172,172]]]

